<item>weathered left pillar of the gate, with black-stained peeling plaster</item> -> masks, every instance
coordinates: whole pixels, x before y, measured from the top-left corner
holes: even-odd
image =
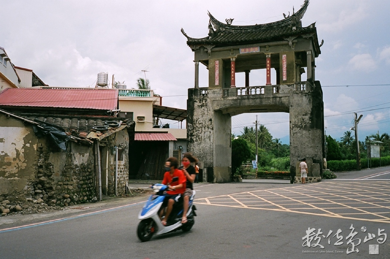
[[[231,179],[231,117],[213,110],[210,96],[221,95],[219,89],[208,89],[199,95],[188,89],[187,150],[203,166],[204,182],[230,182]]]

